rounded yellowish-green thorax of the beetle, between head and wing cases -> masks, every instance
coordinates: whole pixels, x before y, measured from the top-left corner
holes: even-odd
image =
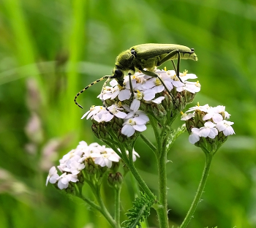
[[[133,69],[134,66],[132,61],[134,58],[135,56],[132,55],[130,50],[125,50],[116,57],[116,66],[118,66],[118,69],[122,69],[124,71]]]

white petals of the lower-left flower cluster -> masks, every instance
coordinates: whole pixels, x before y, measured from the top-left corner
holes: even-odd
[[[132,153],[132,159],[135,161],[139,155],[135,151]],[[67,189],[70,181],[74,183],[78,181],[78,174],[86,167],[84,161],[89,157],[94,160],[95,164],[108,168],[112,166],[113,161],[118,162],[121,159],[115,151],[111,148],[106,148],[105,145],[99,145],[97,142],[87,145],[86,142],[81,141],[77,148],[69,151],[59,160],[58,169],[61,171],[61,175],[58,175],[56,167],[50,168],[46,186],[48,182],[56,183],[58,181],[59,189]]]

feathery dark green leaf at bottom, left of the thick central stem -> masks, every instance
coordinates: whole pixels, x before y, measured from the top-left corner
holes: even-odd
[[[140,192],[140,197],[136,197],[133,202],[132,208],[130,208],[126,215],[128,217],[122,225],[123,228],[141,228],[141,222],[144,221],[150,215],[150,208],[154,204],[154,201],[148,199],[146,194]]]

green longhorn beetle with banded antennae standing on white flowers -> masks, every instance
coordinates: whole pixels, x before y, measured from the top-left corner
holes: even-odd
[[[173,67],[176,71],[176,76],[179,80],[181,78],[179,77],[179,66],[180,61],[182,59],[192,59],[197,61],[197,55],[194,52],[194,48],[189,48],[183,45],[171,45],[171,44],[143,44],[143,45],[135,45],[129,50],[124,50],[122,53],[120,53],[116,57],[116,66],[113,69],[112,75],[105,75],[104,77],[99,78],[98,80],[94,81],[93,83],[89,84],[89,86],[86,86],[81,90],[78,94],[75,96],[75,104],[77,104],[80,108],[83,108],[76,99],[80,94],[82,94],[86,89],[93,86],[96,83],[99,83],[102,80],[105,80],[105,83],[102,87],[102,91],[107,85],[108,81],[110,79],[116,79],[119,86],[123,86],[124,84],[124,72],[129,71],[129,78],[132,75],[132,73],[135,73],[136,70],[139,70],[140,72],[143,72],[143,74],[151,76],[151,77],[157,77],[159,78],[160,82],[163,86],[165,86],[165,83],[163,83],[162,79],[157,75],[156,72],[154,72],[154,68],[156,66],[160,66],[165,61],[171,60],[173,63]],[[174,64],[173,59],[178,59],[177,62],[177,68]],[[145,70],[145,68],[147,70]],[[132,72],[132,73],[131,73]],[[131,84],[131,79],[129,79]],[[182,82],[182,81],[181,81]],[[131,87],[132,90],[132,87]],[[170,93],[170,91],[165,86],[165,90],[172,96],[173,94]],[[132,96],[133,96],[133,91]],[[105,101],[102,99],[103,106],[105,105]]]

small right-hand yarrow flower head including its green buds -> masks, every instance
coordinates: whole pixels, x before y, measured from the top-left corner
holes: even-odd
[[[201,137],[208,139],[218,138],[218,142],[224,142],[227,136],[235,134],[227,121],[230,114],[225,111],[225,106],[210,107],[208,104],[190,107],[186,113],[181,113],[181,120],[186,121],[187,130],[190,133],[189,142],[195,144]]]

